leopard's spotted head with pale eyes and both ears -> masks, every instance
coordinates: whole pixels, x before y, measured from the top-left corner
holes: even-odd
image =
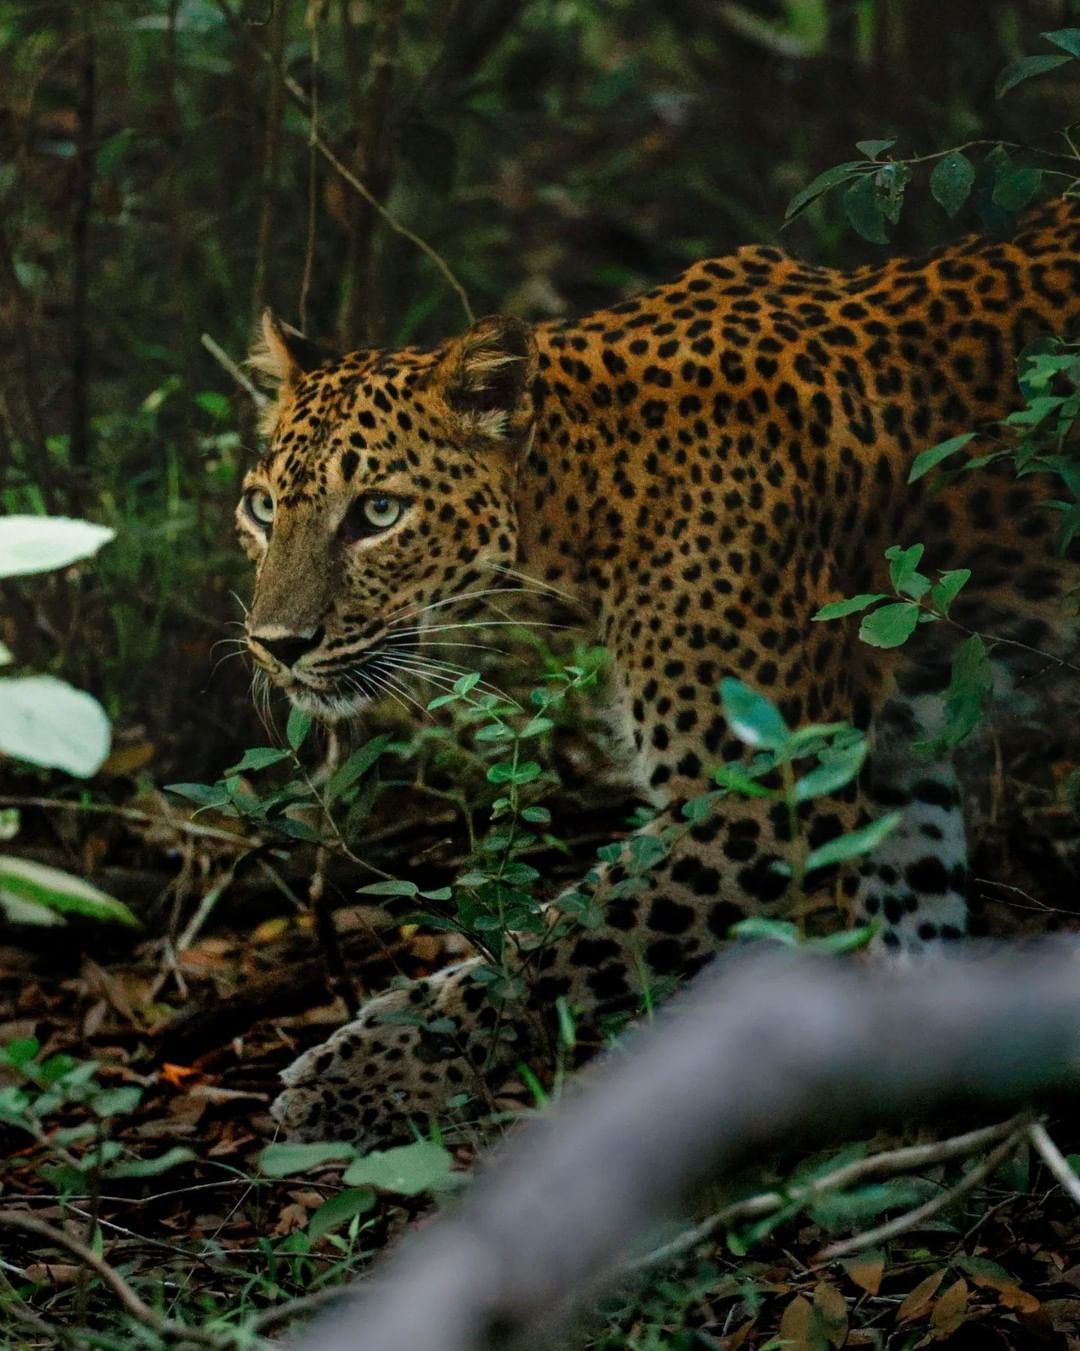
[[[535,340],[491,317],[433,351],[333,357],[268,312],[251,361],[276,397],[237,508],[247,646],[304,712],[347,717],[516,558]]]

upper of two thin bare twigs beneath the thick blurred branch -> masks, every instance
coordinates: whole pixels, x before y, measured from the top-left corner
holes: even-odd
[[[999,1121],[996,1125],[984,1125],[977,1131],[966,1131],[964,1135],[953,1135],[946,1140],[933,1140],[929,1144],[908,1144],[898,1150],[883,1150],[880,1154],[870,1154],[865,1159],[854,1159],[831,1173],[823,1173],[812,1182],[802,1186],[788,1188],[785,1192],[758,1192],[754,1196],[734,1201],[715,1215],[687,1229],[665,1243],[653,1248],[641,1258],[622,1266],[620,1271],[643,1271],[649,1267],[661,1266],[672,1258],[688,1252],[697,1247],[716,1229],[729,1228],[738,1220],[753,1220],[785,1205],[810,1205],[826,1192],[839,1192],[857,1182],[865,1182],[872,1177],[895,1177],[898,1173],[912,1173],[916,1169],[931,1167],[935,1163],[948,1163],[953,1159],[965,1159],[979,1150],[999,1140],[1003,1135],[1011,1135],[1027,1123],[1027,1116],[1014,1116],[1008,1121]]]

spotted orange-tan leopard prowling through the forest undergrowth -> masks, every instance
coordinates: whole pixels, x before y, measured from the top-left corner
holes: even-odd
[[[572,597],[607,650],[614,735],[653,811],[589,874],[591,923],[554,896],[545,942],[512,946],[520,1000],[496,1006],[470,958],[376,994],[300,1055],[272,1108],[291,1136],[370,1148],[518,1101],[522,1065],[550,1082],[561,1009],[599,1046],[650,982],[692,977],[741,920],[788,913],[793,831],[818,848],[899,813],[829,882],[841,923],[872,927],[883,958],[968,934],[953,757],[910,743],[939,730],[957,634],[1000,639],[995,669],[1014,685],[1045,665],[1034,651],[1071,650],[1080,569],[1053,547],[1053,476],[996,462],[910,482],[911,469],[949,438],[989,435],[1021,403],[1018,355],[1077,319],[1066,199],[1011,238],[850,270],[745,246],[580,319],[493,315],[427,347],[338,355],[264,315],[251,361],[274,393],[237,508],[257,666],[311,717],[350,720],[401,654],[423,669],[442,607],[530,578]],[[933,569],[972,571],[954,624],[887,650],[860,640],[857,617],[815,621],[888,594],[884,553],[914,540]],[[691,819],[716,767],[749,754],[726,677],[791,727],[861,730],[862,773],[795,820],[739,793]],[[643,877],[641,835],[662,844]]]

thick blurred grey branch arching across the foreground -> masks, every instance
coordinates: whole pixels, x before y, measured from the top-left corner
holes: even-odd
[[[1077,1088],[1075,943],[918,971],[730,954],[303,1351],[565,1346],[574,1305],[704,1179],[795,1143]]]

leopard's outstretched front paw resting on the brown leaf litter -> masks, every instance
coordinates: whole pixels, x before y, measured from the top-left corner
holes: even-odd
[[[372,1000],[284,1070],[274,1120],[296,1140],[372,1148],[411,1139],[410,1123],[443,1117],[461,1097],[483,1097],[489,1035],[473,1025],[469,988],[466,966]]]

